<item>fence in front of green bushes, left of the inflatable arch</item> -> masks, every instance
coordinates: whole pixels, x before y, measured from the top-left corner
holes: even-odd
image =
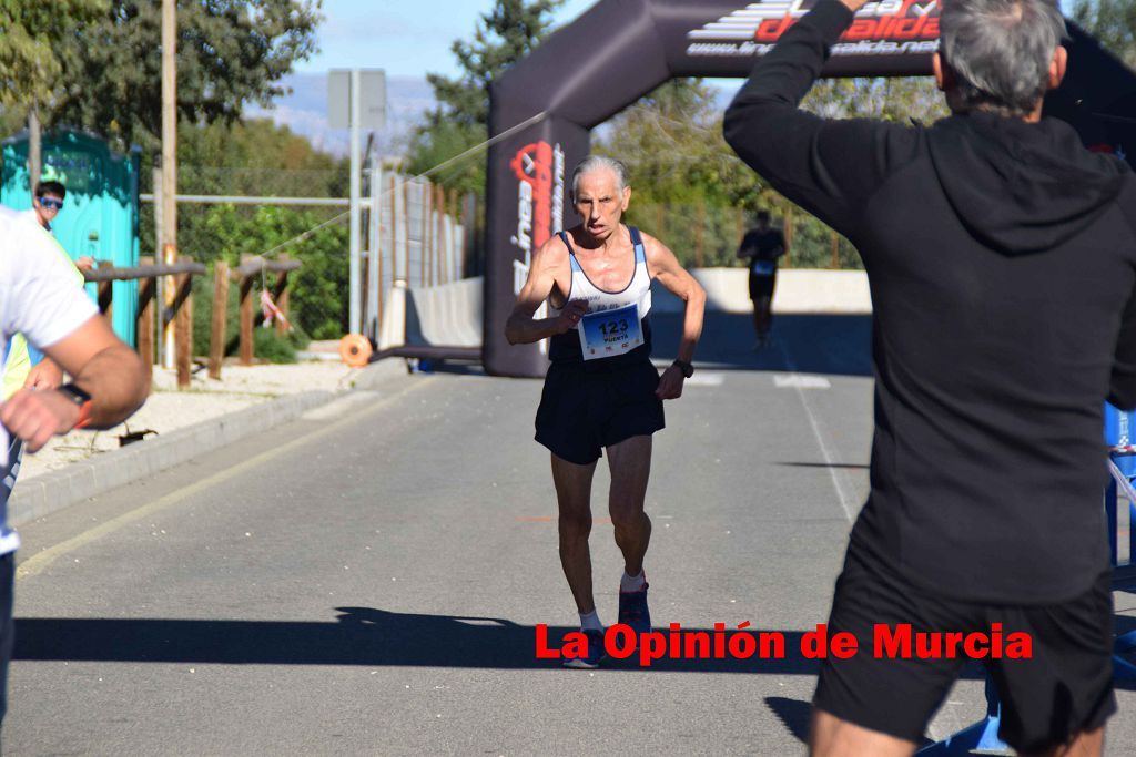
[[[342,171],[276,171],[182,166],[178,193],[183,195],[343,197],[346,176]],[[376,182],[376,186],[370,184]],[[149,193],[152,178],[144,182]],[[378,197],[373,222],[369,202]],[[458,197],[427,179],[393,171],[365,171],[361,314],[368,333],[377,334],[383,302],[395,279],[408,286],[433,286],[476,275],[482,264],[476,237],[478,209],[473,197]],[[141,254],[153,255],[156,207],[143,203]],[[257,329],[258,358],[291,361],[311,339],[339,339],[350,325],[350,213],[346,207],[193,203],[177,209],[178,254],[206,263],[210,275],[194,281],[194,354],[208,354],[209,313],[212,309],[212,271],[218,261],[231,267],[244,259],[299,260],[300,269],[290,278],[292,329],[281,336],[276,329]],[[463,222],[465,219],[474,219]],[[374,266],[377,288],[368,286]],[[253,283],[253,297],[272,287],[272,277]],[[231,289],[226,306],[228,334],[236,333],[239,301]],[[236,342],[229,340],[228,354]]]

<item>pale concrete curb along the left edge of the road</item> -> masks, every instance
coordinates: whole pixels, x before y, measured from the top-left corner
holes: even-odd
[[[353,389],[374,389],[384,380],[406,375],[402,360],[385,360],[364,369]],[[261,434],[295,420],[312,407],[344,396],[345,392],[304,392],[235,413],[177,429],[165,436],[103,453],[58,471],[17,481],[8,499],[8,522],[20,525],[69,507],[83,499],[132,483],[173,468],[217,447]]]

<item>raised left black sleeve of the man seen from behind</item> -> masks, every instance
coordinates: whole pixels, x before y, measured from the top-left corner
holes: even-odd
[[[836,0],[821,0],[753,68],[724,131],[778,192],[855,242],[861,209],[891,167],[911,157],[914,140],[896,124],[829,120],[797,108],[852,18]]]

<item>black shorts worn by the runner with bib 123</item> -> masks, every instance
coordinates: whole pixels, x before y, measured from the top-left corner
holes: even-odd
[[[610,370],[552,363],[536,410],[536,440],[558,457],[587,465],[603,447],[666,427],[658,387],[659,371],[648,361]]]

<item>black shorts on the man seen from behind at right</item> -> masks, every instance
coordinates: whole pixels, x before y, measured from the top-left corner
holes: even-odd
[[[1002,623],[1004,634],[1021,631],[1031,637],[1030,659],[982,661],[1002,700],[999,735],[1018,751],[1064,743],[1078,731],[1104,725],[1117,710],[1109,573],[1068,602],[977,604],[930,596],[850,549],[836,581],[828,629],[829,638],[852,632],[860,651],[821,664],[813,704],[841,720],[919,743],[969,658],[877,658],[874,626],[901,623],[914,631],[987,634],[994,623]]]

